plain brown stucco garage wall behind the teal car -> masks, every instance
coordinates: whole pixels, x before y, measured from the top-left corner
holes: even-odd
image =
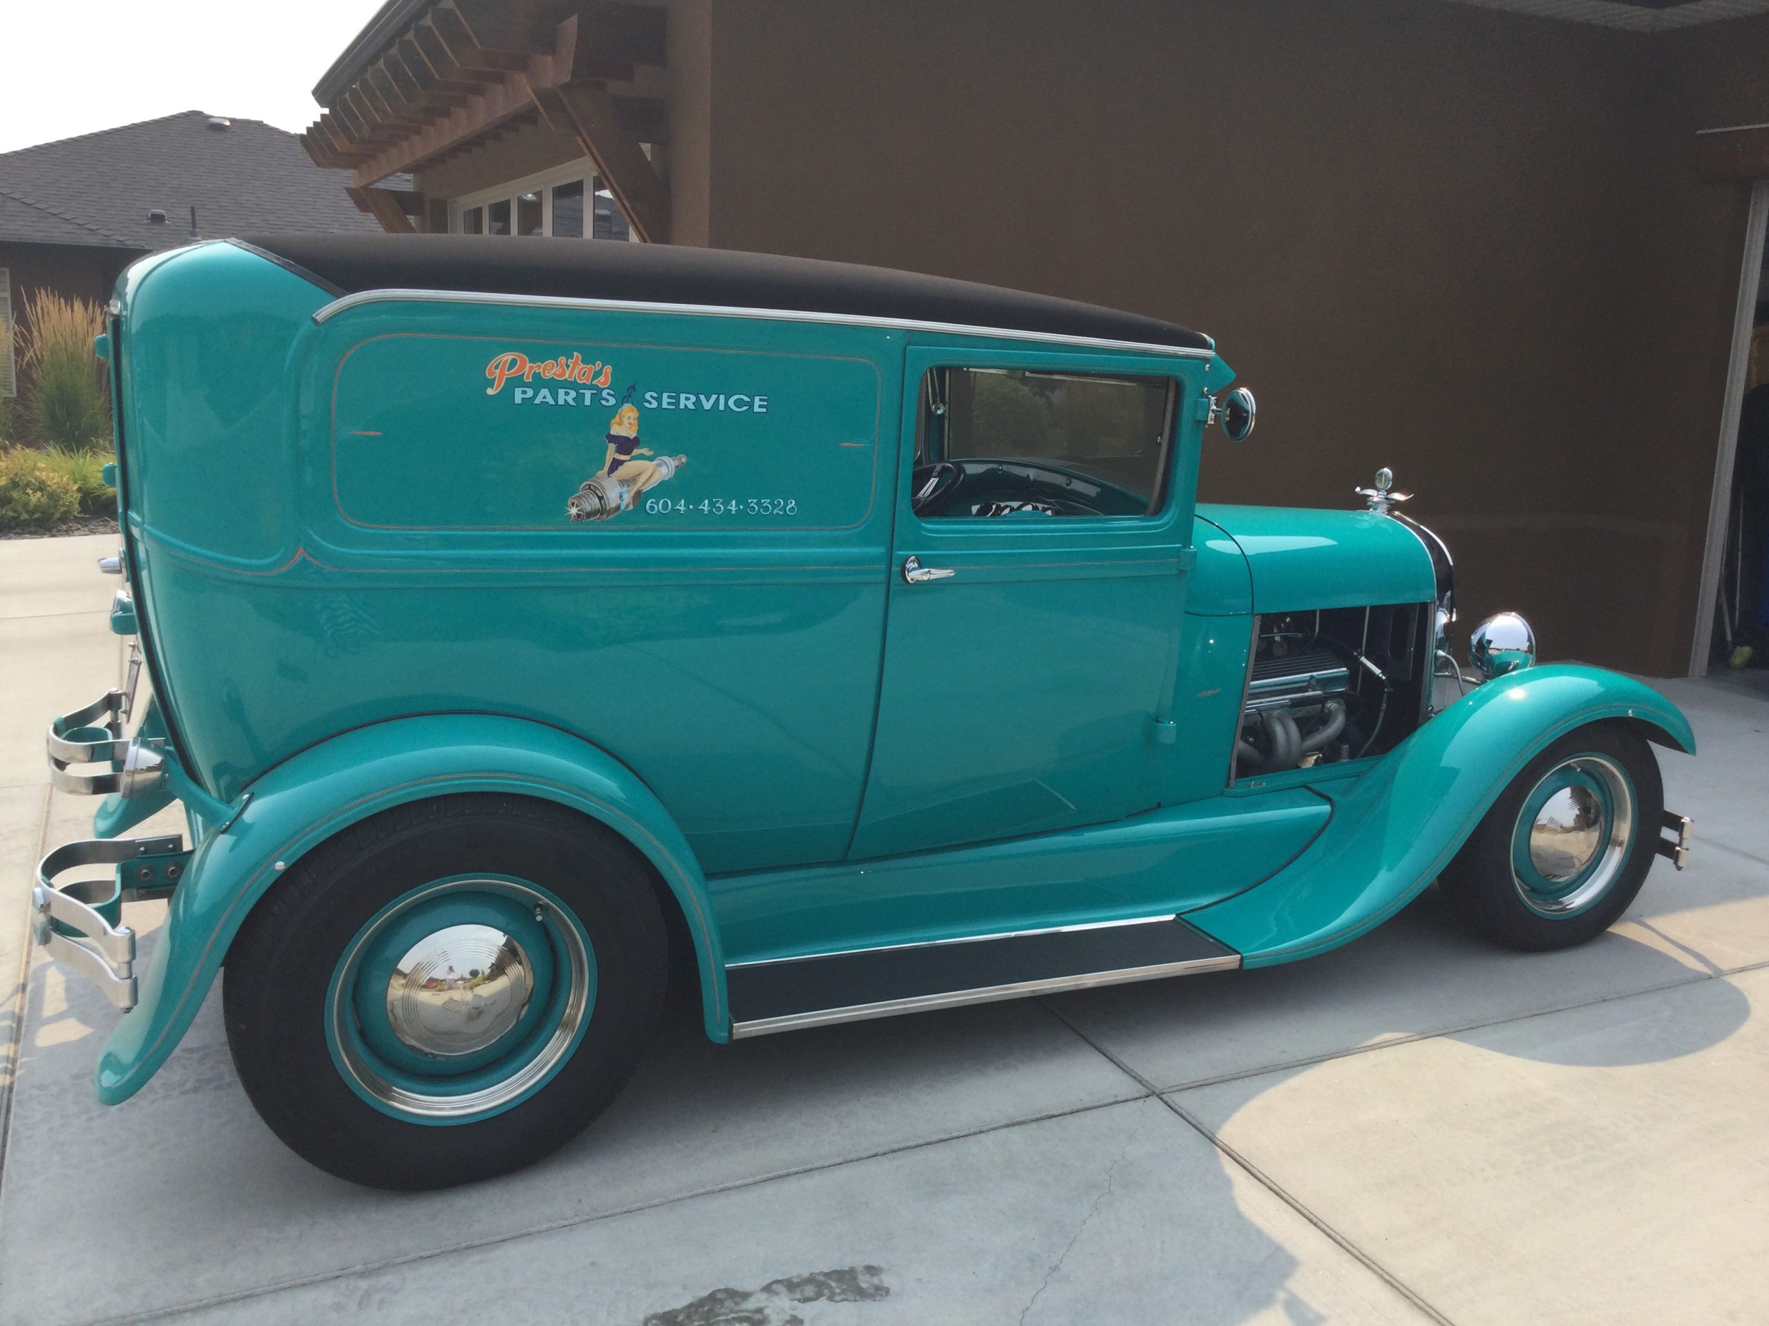
[[[1686,670],[1744,219],[1695,180],[1695,65],[1725,51],[1728,113],[1769,118],[1764,23],[1666,39],[1419,0],[713,21],[713,244],[1198,325],[1261,403],[1245,446],[1210,440],[1206,499],[1348,506],[1389,463],[1458,553],[1465,624],[1514,606],[1548,658]]]

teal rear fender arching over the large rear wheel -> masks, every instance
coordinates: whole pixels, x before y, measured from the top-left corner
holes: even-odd
[[[632,769],[566,732],[495,714],[433,714],[356,728],[276,766],[226,833],[211,834],[172,895],[138,1002],[104,1043],[97,1094],[127,1100],[196,1017],[228,944],[280,873],[340,829],[407,801],[511,792],[601,820],[656,866],[701,969],[706,1031],[725,1040],[725,964],[706,877],[681,829]]]

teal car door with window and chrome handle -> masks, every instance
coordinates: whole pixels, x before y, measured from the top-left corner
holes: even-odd
[[[907,350],[884,668],[851,857],[1157,804],[1198,359]],[[922,506],[918,511],[916,506]],[[934,573],[934,575],[927,575]]]

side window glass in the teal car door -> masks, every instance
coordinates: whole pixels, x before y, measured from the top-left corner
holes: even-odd
[[[922,384],[920,516],[1145,516],[1166,499],[1171,378],[936,368]]]

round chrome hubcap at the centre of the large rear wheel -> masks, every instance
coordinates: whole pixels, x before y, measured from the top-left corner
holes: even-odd
[[[407,949],[387,979],[393,1034],[423,1054],[456,1057],[497,1043],[534,994],[529,955],[488,925],[451,925]]]

